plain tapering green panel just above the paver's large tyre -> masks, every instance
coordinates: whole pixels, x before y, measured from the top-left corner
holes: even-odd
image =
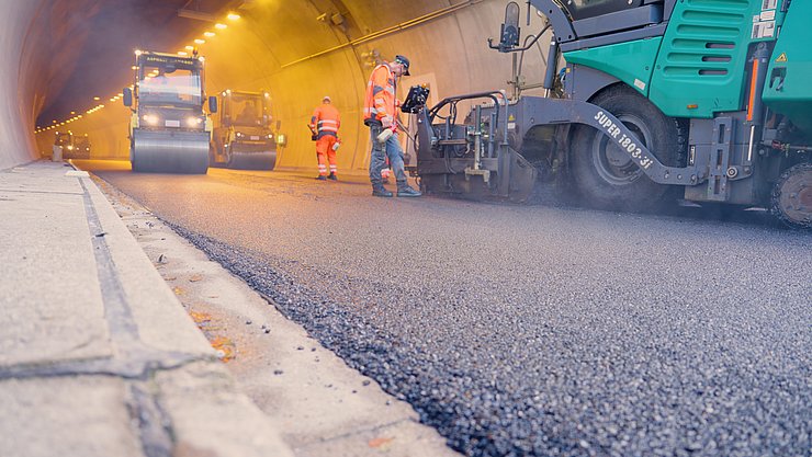
[[[564,53],[568,64],[578,64],[611,75],[649,95],[649,82],[662,37]]]

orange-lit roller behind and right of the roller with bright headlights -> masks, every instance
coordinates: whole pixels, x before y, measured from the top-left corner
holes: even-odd
[[[273,170],[277,136],[268,92],[221,92],[216,119],[212,135],[212,165]]]

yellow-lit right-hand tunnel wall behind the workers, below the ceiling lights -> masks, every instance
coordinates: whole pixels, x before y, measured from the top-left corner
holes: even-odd
[[[411,60],[411,76],[404,78],[398,87],[401,98],[415,83],[430,84],[433,102],[460,93],[508,89],[512,57],[487,48],[487,38],[498,36],[506,0],[315,0],[249,4],[250,8],[239,11],[243,15],[239,21],[217,31],[217,36],[200,48],[206,57],[207,92],[270,91],[280,132],[289,137],[289,146],[279,156],[278,165],[282,168],[315,170],[315,145],[306,125],[326,94],[342,116],[339,169],[368,167],[369,130],[362,124],[361,110],[366,80],[376,59],[403,54]],[[343,19],[340,25],[329,19],[336,12]],[[325,20],[319,20],[325,13]],[[531,19],[532,25],[525,31],[540,30],[541,20],[535,14]],[[204,30],[201,28],[201,34]],[[195,37],[179,37],[176,49],[156,50],[182,49]],[[543,77],[541,48],[545,52],[549,41],[540,43],[543,46],[531,49],[525,58],[529,82]],[[325,53],[328,49],[334,50]],[[129,75],[126,70],[120,75]],[[121,85],[129,83],[122,76]],[[78,110],[83,113],[95,103],[99,102],[89,101]],[[126,159],[128,110],[121,101],[102,100],[102,103],[103,110],[84,114],[82,119],[60,129],[88,134],[94,157]],[[49,151],[53,139],[54,130],[37,135],[37,149]]]

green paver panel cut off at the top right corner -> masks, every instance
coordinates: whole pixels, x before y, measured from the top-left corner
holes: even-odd
[[[812,135],[812,1],[790,3],[767,71],[764,102]]]

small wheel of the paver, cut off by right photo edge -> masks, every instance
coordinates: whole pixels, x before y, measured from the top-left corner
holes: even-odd
[[[790,228],[812,229],[812,163],[781,173],[772,187],[770,210]]]

